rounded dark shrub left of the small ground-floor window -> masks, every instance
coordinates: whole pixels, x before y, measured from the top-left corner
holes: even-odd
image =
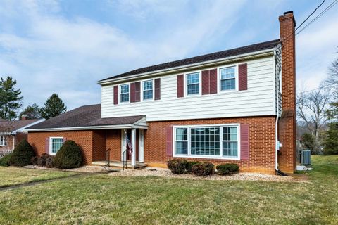
[[[18,146],[16,146],[13,150],[13,154],[9,163],[12,166],[24,167],[27,165],[31,165],[30,160],[35,156],[35,152],[25,139],[21,141]]]

